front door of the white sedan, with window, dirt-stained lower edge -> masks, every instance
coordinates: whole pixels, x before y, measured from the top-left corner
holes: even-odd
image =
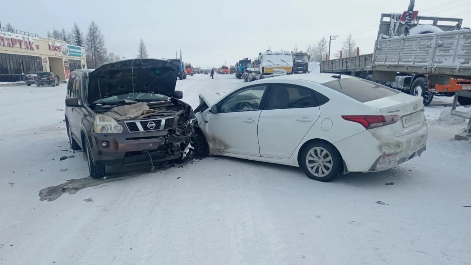
[[[217,113],[207,117],[207,138],[213,151],[260,157],[257,124],[266,88],[242,88],[216,105]]]

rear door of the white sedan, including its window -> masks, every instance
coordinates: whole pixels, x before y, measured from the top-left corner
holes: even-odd
[[[320,116],[314,91],[274,84],[258,125],[260,156],[288,159]]]

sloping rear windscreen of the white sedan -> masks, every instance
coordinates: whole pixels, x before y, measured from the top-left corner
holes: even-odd
[[[387,86],[360,78],[344,78],[322,84],[360,102],[382,99],[400,93]]]

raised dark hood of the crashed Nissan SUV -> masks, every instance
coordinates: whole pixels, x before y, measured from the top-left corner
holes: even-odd
[[[173,97],[178,67],[158,59],[128,59],[105,64],[89,75],[89,103],[132,92]]]

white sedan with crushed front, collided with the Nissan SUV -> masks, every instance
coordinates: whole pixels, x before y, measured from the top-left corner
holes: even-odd
[[[328,182],[420,156],[422,98],[348,75],[284,75],[200,95],[196,132],[206,155],[299,166]]]

